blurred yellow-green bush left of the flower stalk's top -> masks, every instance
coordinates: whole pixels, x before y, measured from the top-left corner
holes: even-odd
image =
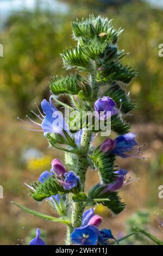
[[[4,45],[0,82],[3,92],[14,98],[17,111],[25,113],[41,100],[50,77],[61,74],[59,53],[71,39],[67,23],[65,16],[39,8],[12,14],[7,21],[0,39]]]

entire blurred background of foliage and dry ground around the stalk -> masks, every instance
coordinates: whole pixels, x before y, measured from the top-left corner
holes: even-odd
[[[74,45],[71,21],[90,13],[113,19],[115,28],[124,32],[119,47],[130,54],[123,62],[134,66],[139,75],[127,90],[138,107],[129,120],[139,144],[146,144],[143,154],[149,160],[117,159],[122,168],[132,170],[131,178],[139,180],[124,186],[121,196],[126,209],[118,216],[98,206],[104,218],[102,227],[112,229],[115,237],[131,232],[133,225],[145,228],[163,240],[163,228],[158,220],[163,216],[163,199],[158,187],[163,185],[163,0],[0,0],[0,107],[1,147],[0,244],[27,243],[35,228],[42,230],[49,245],[62,245],[65,227],[29,216],[11,201],[54,215],[46,202],[37,204],[28,196],[28,184],[50,168],[51,161],[62,153],[48,149],[42,133],[20,129],[17,116],[24,117],[35,110],[49,95],[48,81],[53,75],[64,75],[60,52]],[[97,182],[97,173],[89,170],[87,187]],[[20,239],[20,240],[19,240]],[[23,240],[23,241],[21,241]],[[126,243],[149,244],[143,236],[133,236]]]

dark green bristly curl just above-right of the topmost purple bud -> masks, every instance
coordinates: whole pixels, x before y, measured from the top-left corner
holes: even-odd
[[[102,96],[111,97],[116,103],[117,107],[120,107],[122,100],[122,113],[126,114],[136,107],[136,104],[127,95],[125,90],[116,82],[109,84],[109,88],[104,92]]]

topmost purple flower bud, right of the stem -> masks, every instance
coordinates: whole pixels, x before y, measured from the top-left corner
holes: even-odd
[[[100,112],[104,112],[105,119],[120,112],[116,106],[116,102],[108,96],[103,96],[101,99],[96,100],[94,104],[95,111],[99,114]],[[110,112],[110,115],[107,115],[107,112]]]

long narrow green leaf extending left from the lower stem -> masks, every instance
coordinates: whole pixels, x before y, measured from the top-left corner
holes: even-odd
[[[22,205],[20,205],[20,204],[15,203],[15,202],[11,202],[11,204],[14,204],[14,205],[18,206],[18,207],[21,208],[23,211],[28,212],[28,214],[32,214],[32,215],[34,215],[34,216],[43,218],[43,219],[45,219],[45,220],[47,220],[47,221],[64,223],[64,224],[67,224],[67,225],[70,225],[70,224],[71,224],[71,222],[68,221],[68,220],[63,220],[63,219],[61,219],[61,218],[55,218],[55,217],[53,217],[53,216],[41,214],[40,212],[31,210],[31,209],[29,209],[29,208],[27,208],[27,207],[24,207],[24,206],[22,206]]]

